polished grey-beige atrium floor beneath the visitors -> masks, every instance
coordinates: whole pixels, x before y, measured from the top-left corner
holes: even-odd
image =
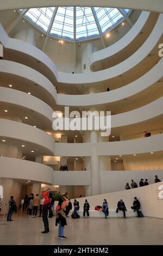
[[[158,218],[67,218],[65,236],[58,239],[55,217],[49,219],[50,232],[41,234],[42,218],[21,218],[2,223],[0,245],[163,245],[163,220]]]

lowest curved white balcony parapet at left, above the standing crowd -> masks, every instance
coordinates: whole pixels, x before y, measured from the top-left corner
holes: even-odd
[[[0,177],[53,184],[53,169],[45,164],[0,157]]]

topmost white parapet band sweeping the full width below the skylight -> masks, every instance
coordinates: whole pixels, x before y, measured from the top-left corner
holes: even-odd
[[[110,78],[116,77],[118,75],[123,74],[124,72],[131,70],[134,68],[134,66],[136,66],[137,64],[139,64],[148,54],[149,52],[152,51],[152,49],[155,47],[156,42],[158,42],[158,40],[160,39],[162,32],[163,32],[163,28],[162,28],[162,23],[163,23],[163,15],[160,14],[159,15],[159,19],[156,22],[156,25],[152,31],[152,33],[149,35],[148,39],[145,41],[145,43],[139,48],[139,50],[137,50],[132,56],[130,56],[128,59],[124,60],[123,62],[109,68],[109,69],[105,69],[105,70],[101,70],[101,71],[97,71],[97,72],[93,72],[93,73],[87,73],[87,75],[83,75],[83,74],[67,74],[64,72],[59,72],[56,70],[56,67],[54,65],[54,63],[52,62],[52,60],[50,60],[45,53],[43,53],[42,51],[40,51],[39,49],[37,49],[34,46],[28,45],[28,52],[26,52],[26,44],[22,41],[18,42],[18,47],[17,47],[17,40],[13,41],[14,39],[12,39],[11,43],[10,43],[10,38],[8,39],[8,41],[6,42],[6,38],[7,36],[4,35],[4,31],[1,34],[1,31],[3,30],[2,26],[1,26],[1,31],[0,31],[0,40],[2,41],[2,43],[4,44],[5,47],[8,46],[8,44],[10,45],[10,48],[14,48],[14,50],[17,48],[17,51],[20,51],[20,49],[22,49],[22,52],[24,52],[24,54],[28,54],[29,56],[32,56],[33,58],[35,57],[36,59],[41,58],[44,60],[43,63],[45,63],[45,65],[47,66],[47,68],[49,70],[51,70],[51,72],[53,73],[54,78],[56,78],[56,80],[58,81],[58,83],[65,83],[67,84],[91,84],[91,83],[97,83],[97,82],[102,82],[102,81],[107,81]],[[4,39],[3,39],[4,37]],[[22,46],[21,46],[22,45]],[[35,50],[36,49],[36,50]],[[34,51],[35,50],[35,51]],[[46,56],[46,57],[45,57]],[[50,64],[49,64],[50,62]],[[53,80],[49,77],[49,80]]]

